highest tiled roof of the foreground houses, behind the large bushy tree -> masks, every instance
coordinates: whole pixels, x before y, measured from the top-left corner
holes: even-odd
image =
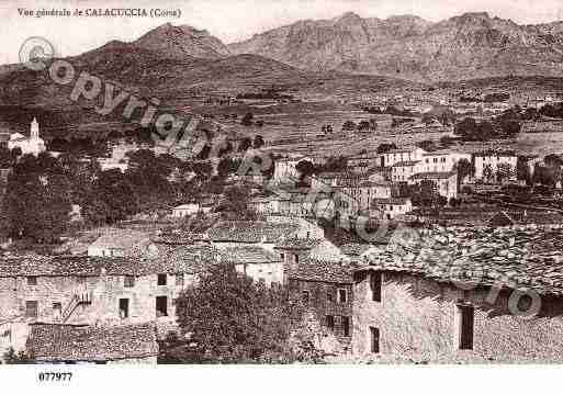
[[[212,241],[232,243],[274,243],[282,236],[290,236],[297,225],[269,222],[224,221],[207,230]]]

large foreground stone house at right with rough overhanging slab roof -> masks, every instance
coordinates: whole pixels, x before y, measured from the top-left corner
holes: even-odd
[[[561,362],[562,244],[561,228],[450,228],[373,252],[354,272],[353,353]]]

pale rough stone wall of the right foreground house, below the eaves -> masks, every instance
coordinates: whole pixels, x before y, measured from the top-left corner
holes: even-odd
[[[382,301],[371,301],[369,277],[354,285],[352,351],[361,359],[371,353],[370,327],[380,331],[380,353],[439,360],[477,356],[488,361],[561,361],[563,306],[542,299],[538,316],[515,316],[508,308],[510,291],[493,304],[491,291],[463,291],[408,273],[383,273]],[[473,350],[459,350],[458,304],[474,306]]]

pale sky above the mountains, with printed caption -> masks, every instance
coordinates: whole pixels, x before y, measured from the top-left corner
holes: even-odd
[[[22,16],[19,9],[142,8],[180,10],[180,18]],[[134,41],[164,23],[205,29],[224,43],[305,19],[330,19],[352,11],[362,18],[414,14],[437,22],[464,12],[486,11],[519,24],[563,20],[562,0],[0,0],[0,64],[18,63],[21,45],[41,36],[57,56],[78,55],[111,40]]]

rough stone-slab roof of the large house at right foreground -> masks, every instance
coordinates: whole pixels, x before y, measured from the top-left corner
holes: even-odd
[[[413,243],[391,241],[363,263],[442,282],[563,295],[563,228],[437,228]]]

